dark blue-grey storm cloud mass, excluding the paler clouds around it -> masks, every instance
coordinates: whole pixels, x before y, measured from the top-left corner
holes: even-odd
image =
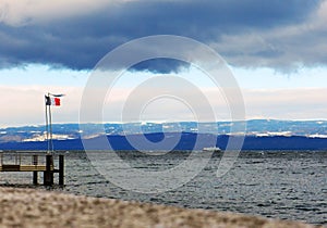
[[[265,34],[304,23],[318,1],[208,0],[132,1],[110,5],[93,14],[36,22],[22,26],[0,24],[0,66],[41,63],[73,69],[89,69],[110,50],[143,36],[170,34],[216,43],[222,55],[238,65],[254,66],[256,58],[276,60],[278,49],[243,47],[245,34]],[[232,45],[227,37],[238,37]],[[277,41],[272,43],[277,43]],[[246,43],[245,43],[246,45]],[[229,47],[229,48],[228,48]],[[250,49],[250,50],[247,50]],[[132,53],[131,53],[132,54]],[[245,59],[240,61],[239,58]],[[247,58],[247,59],[246,59]],[[249,61],[247,61],[249,60]],[[134,68],[177,71],[182,63],[153,61]],[[183,65],[183,64],[182,64]],[[274,67],[274,61],[270,64]]]

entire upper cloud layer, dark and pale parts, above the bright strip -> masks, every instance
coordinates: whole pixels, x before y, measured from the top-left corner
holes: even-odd
[[[92,69],[116,47],[159,34],[209,45],[238,67],[326,66],[326,20],[327,1],[318,0],[2,0],[0,67]],[[135,68],[169,72],[180,64]]]

